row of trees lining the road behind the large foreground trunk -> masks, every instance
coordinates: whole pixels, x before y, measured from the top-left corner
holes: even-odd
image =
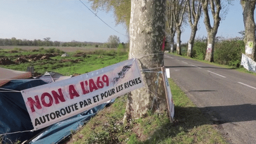
[[[125,24],[130,27],[131,0],[89,0],[92,2],[92,9],[114,12],[117,24]],[[205,47],[205,60],[214,61],[215,39],[220,22],[225,19],[229,7],[232,7],[232,0],[166,0],[165,1],[165,30],[166,36],[171,43],[171,52],[174,47],[174,37],[177,37],[177,53],[181,55],[181,29],[184,24],[191,27],[190,40],[188,41],[187,56],[193,56],[193,46],[197,32],[197,25],[200,18],[204,18],[204,25],[207,30],[207,45]],[[256,0],[241,0],[243,19],[245,27],[245,55],[256,60],[255,21],[254,10]],[[234,15],[236,17],[237,15]]]

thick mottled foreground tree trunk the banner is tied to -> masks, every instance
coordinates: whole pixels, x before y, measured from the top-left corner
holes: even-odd
[[[124,120],[136,119],[148,110],[168,110],[161,67],[164,65],[162,41],[165,36],[165,0],[132,0],[129,58],[137,57],[144,88],[130,92]],[[146,72],[153,70],[154,72]]]

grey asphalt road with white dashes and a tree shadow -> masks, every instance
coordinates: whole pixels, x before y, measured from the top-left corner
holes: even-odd
[[[168,54],[164,65],[231,143],[256,143],[256,76]]]

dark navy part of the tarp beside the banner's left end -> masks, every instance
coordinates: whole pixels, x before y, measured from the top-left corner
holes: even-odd
[[[4,85],[5,89],[21,91],[23,89],[46,84],[39,80],[13,80]],[[23,97],[20,92],[1,92],[0,89],[0,134],[33,130],[30,116],[25,107]],[[5,90],[6,91],[6,90]],[[12,143],[16,140],[27,140],[39,132],[23,132],[11,135],[4,135],[3,143]]]

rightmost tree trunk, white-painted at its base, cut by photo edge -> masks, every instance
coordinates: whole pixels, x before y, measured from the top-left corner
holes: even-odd
[[[254,22],[254,9],[255,0],[241,1],[244,17],[245,27],[245,55],[250,57],[252,60],[256,60],[256,41],[255,41],[255,22]]]

